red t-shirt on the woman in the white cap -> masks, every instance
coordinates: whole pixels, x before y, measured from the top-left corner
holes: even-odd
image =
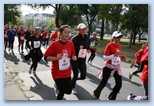
[[[104,55],[110,56],[110,55],[116,53],[118,50],[121,50],[121,45],[110,42],[107,44],[107,46],[104,50]],[[111,60],[107,60],[106,63],[111,64]]]

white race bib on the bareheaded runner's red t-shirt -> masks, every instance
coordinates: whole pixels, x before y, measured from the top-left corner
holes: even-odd
[[[63,71],[70,67],[70,58],[63,57],[59,60],[59,70]]]

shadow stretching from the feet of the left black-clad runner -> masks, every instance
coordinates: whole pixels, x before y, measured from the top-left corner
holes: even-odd
[[[37,93],[42,97],[43,100],[56,100],[54,88],[43,84],[43,82],[38,78],[38,76],[30,77],[34,83],[35,87],[30,87],[30,91]]]

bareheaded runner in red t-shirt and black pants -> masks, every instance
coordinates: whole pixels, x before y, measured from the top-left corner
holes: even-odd
[[[75,61],[73,43],[68,40],[70,27],[62,25],[59,29],[60,40],[54,41],[44,53],[46,61],[52,61],[51,73],[58,89],[57,100],[62,100],[64,94],[71,94],[71,67],[70,59]]]

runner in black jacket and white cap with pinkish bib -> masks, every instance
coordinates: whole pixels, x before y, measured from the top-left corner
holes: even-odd
[[[75,85],[77,80],[84,80],[87,74],[86,67],[86,53],[90,53],[89,38],[85,34],[87,27],[84,23],[80,23],[77,27],[79,34],[72,38],[74,43],[75,53],[77,56],[77,61],[71,61],[73,78],[72,78],[72,88],[73,94],[77,94]],[[80,77],[78,78],[78,72],[80,72]]]

